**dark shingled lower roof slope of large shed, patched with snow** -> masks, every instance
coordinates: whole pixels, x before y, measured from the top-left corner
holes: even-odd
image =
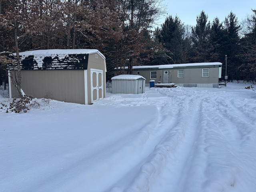
[[[89,54],[68,54],[64,58],[58,55],[45,56],[39,66],[34,55],[26,56],[21,61],[22,70],[86,70],[88,67]]]

